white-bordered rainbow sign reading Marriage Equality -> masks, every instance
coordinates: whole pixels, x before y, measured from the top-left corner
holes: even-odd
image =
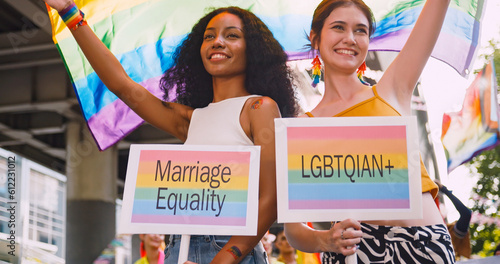
[[[260,147],[131,145],[119,233],[256,235]]]

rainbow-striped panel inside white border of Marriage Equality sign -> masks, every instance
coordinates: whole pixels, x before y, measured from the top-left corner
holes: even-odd
[[[249,152],[142,150],[132,223],[244,227],[249,162]],[[222,178],[224,167],[230,176]]]

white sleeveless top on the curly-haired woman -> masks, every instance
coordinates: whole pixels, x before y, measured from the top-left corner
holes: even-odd
[[[196,108],[191,116],[185,145],[246,145],[253,146],[240,124],[240,114],[247,95],[210,103]]]

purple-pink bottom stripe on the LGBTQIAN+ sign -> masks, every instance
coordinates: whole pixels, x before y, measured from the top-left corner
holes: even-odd
[[[405,209],[410,200],[298,200],[289,201],[289,209]]]

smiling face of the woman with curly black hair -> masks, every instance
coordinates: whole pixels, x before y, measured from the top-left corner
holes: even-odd
[[[213,77],[244,75],[246,42],[241,19],[227,12],[212,18],[205,29],[200,54]]]

